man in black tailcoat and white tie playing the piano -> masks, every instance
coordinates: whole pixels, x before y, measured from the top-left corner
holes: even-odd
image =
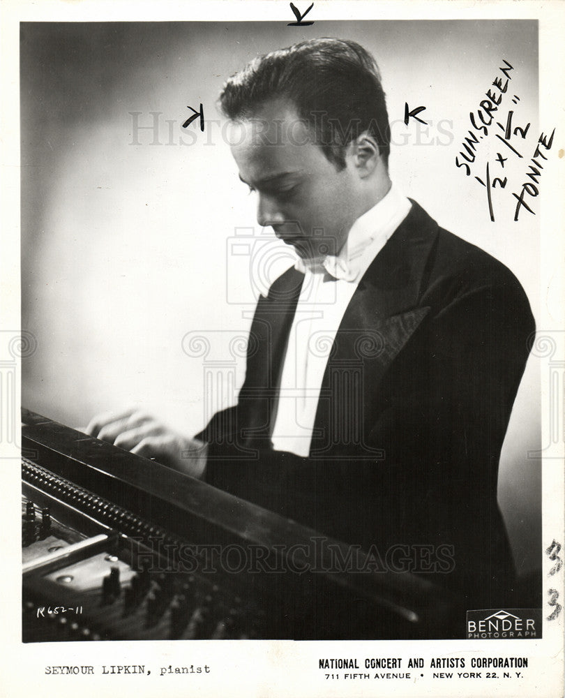
[[[296,265],[259,299],[236,406],[193,439],[138,413],[89,433],[366,550],[448,549],[441,584],[469,609],[508,604],[497,468],[534,332],[520,283],[391,184],[356,43],[256,59],[220,106],[259,225]]]

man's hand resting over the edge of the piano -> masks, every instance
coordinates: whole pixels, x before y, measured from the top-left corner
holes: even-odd
[[[172,431],[140,410],[98,415],[86,433],[191,477],[204,475],[208,445]]]

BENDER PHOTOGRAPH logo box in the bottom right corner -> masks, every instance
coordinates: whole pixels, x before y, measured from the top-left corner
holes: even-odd
[[[467,639],[532,639],[541,637],[541,609],[467,611]]]

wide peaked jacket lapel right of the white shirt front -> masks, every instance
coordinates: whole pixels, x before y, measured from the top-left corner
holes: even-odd
[[[363,422],[370,420],[375,389],[430,311],[419,299],[437,230],[437,223],[412,202],[409,214],[359,282],[326,365],[312,456],[327,457],[328,452],[341,447],[350,451],[363,443]],[[368,449],[367,457],[378,454]]]

